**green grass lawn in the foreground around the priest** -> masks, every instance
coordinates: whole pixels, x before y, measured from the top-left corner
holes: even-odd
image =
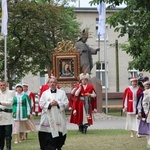
[[[29,139],[14,144],[12,150],[40,150],[37,132],[29,133]],[[147,139],[130,138],[125,130],[88,130],[86,135],[69,130],[63,150],[146,150]]]

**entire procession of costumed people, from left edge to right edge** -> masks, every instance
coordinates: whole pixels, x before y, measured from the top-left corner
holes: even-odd
[[[96,92],[89,84],[90,75],[81,73],[79,82],[71,91],[69,99],[51,76],[40,89],[38,140],[41,150],[61,150],[67,137],[65,109],[71,111],[70,123],[78,126],[79,132],[87,133],[93,124],[92,113],[97,112]],[[130,79],[130,86],[123,94],[123,111],[126,113],[126,130],[130,137],[150,135],[150,81]],[[14,91],[7,89],[7,83],[0,81],[0,150],[11,150],[12,135],[18,144],[28,138],[28,133],[37,131],[34,124],[35,95],[28,84],[17,84]]]

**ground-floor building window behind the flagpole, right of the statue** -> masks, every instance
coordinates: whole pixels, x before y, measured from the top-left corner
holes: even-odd
[[[96,77],[101,80],[102,88],[105,88],[105,69],[108,74],[108,70],[107,67],[105,66],[105,62],[100,62],[96,64]]]

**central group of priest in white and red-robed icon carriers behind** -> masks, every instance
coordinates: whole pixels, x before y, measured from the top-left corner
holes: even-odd
[[[72,88],[69,100],[54,76],[41,87],[39,107],[42,113],[38,132],[41,150],[61,150],[67,135],[67,107],[71,110],[70,123],[77,124],[82,134],[93,124],[92,112],[97,111],[96,92],[88,83],[88,73],[81,73],[79,77],[80,82]]]

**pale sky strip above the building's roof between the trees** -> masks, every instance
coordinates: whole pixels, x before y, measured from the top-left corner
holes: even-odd
[[[80,1],[80,2],[79,2]],[[90,6],[90,4],[89,4],[89,2],[90,2],[91,0],[77,0],[77,2],[76,3],[70,3],[70,5],[73,5],[73,6],[75,6],[75,7],[96,7],[96,6]],[[121,6],[119,6],[119,7],[125,7],[125,5],[123,4],[123,5],[121,5]]]

